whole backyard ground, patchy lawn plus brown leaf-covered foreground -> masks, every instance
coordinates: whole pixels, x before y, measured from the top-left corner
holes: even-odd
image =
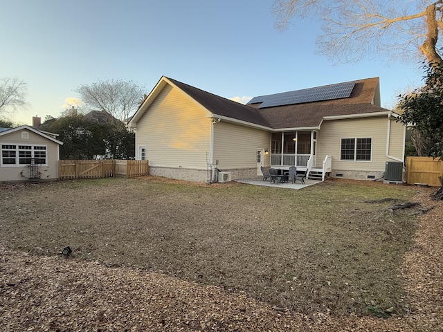
[[[443,331],[432,192],[152,177],[3,185],[0,331]],[[422,204],[389,211],[404,201]]]

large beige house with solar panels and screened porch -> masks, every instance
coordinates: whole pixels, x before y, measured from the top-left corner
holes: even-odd
[[[397,118],[380,106],[378,77],[244,105],[163,76],[128,127],[153,175],[217,182],[296,166],[308,178],[375,179],[388,165],[402,172],[406,130]]]

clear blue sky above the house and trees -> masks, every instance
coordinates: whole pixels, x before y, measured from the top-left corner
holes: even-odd
[[[0,77],[28,84],[28,111],[60,116],[75,89],[133,80],[149,93],[162,75],[225,98],[380,77],[381,104],[422,83],[416,63],[334,66],[315,54],[320,22],[274,28],[272,0],[0,0]]]

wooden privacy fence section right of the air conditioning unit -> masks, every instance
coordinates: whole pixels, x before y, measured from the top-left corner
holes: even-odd
[[[440,187],[439,176],[443,174],[443,161],[431,157],[406,157],[406,182],[426,183]]]

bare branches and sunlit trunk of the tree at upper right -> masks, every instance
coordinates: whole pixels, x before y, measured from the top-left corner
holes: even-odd
[[[406,60],[407,51],[438,63],[442,11],[443,0],[275,0],[273,4],[279,30],[287,28],[293,17],[320,18],[318,52],[334,62],[356,62],[369,53],[384,52]]]

